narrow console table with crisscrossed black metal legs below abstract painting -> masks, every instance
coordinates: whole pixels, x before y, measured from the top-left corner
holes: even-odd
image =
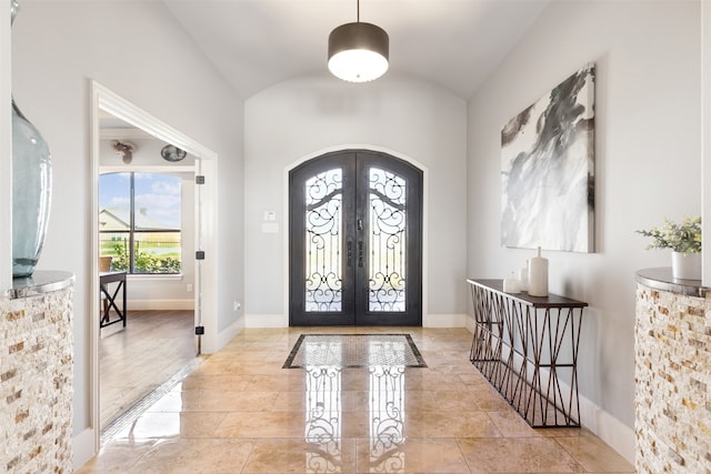
[[[467,280],[474,304],[470,361],[533,427],[579,427],[578,347],[588,303],[503,292]]]

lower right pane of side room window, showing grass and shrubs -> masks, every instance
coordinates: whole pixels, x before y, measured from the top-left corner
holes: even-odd
[[[180,273],[180,232],[136,232],[133,273]]]

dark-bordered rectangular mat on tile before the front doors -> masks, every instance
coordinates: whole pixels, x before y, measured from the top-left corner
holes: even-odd
[[[410,334],[301,334],[282,369],[427,367]]]

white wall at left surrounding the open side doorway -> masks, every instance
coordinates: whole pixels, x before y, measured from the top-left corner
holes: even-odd
[[[90,79],[219,154],[218,320],[239,325],[242,289],[242,101],[160,2],[22,1],[12,31],[14,98],[53,160],[49,232],[39,269],[77,275],[74,435],[91,426]]]

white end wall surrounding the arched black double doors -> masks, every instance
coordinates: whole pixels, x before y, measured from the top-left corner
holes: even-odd
[[[288,321],[288,170],[307,157],[352,147],[389,151],[425,169],[424,315],[437,323],[465,313],[463,100],[392,73],[367,84],[323,73],[251,97],[244,137],[248,323]],[[276,211],[278,233],[261,232],[264,211]]]

